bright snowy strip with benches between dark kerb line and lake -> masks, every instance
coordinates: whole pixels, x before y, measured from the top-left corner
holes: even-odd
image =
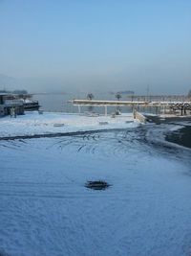
[[[108,123],[108,124],[106,124]],[[26,112],[25,115],[0,119],[0,137],[74,132],[110,128],[137,127],[132,114],[111,116],[88,116],[79,114]]]

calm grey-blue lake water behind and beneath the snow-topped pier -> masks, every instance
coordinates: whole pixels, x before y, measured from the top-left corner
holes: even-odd
[[[33,100],[37,100],[45,111],[50,112],[68,112],[68,113],[76,113],[78,112],[77,106],[74,106],[69,103],[70,100],[73,99],[86,99],[87,94],[46,94],[46,95],[34,95]],[[109,93],[95,94],[96,100],[117,100],[115,95]],[[125,101],[127,98],[124,96],[121,98],[121,101]],[[108,113],[115,112],[117,109],[116,106],[109,106]],[[82,106],[82,111],[95,111],[97,113],[103,114],[104,108],[102,106],[97,107],[94,106],[90,108],[88,106]],[[132,112],[132,107],[122,106],[120,107],[121,112]],[[155,113],[156,109],[141,107],[139,111],[142,112],[153,112]]]

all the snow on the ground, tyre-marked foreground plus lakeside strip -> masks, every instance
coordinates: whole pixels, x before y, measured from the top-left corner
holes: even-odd
[[[82,118],[80,128],[97,131],[0,141],[0,252],[11,256],[190,254],[190,151],[171,144],[163,147],[158,134],[167,125],[134,124],[133,128],[125,123],[124,130],[99,132],[95,117],[93,125],[91,117],[30,115],[1,120],[9,126],[14,122],[15,129],[2,126],[8,126],[9,134],[26,134],[34,132],[36,123],[37,131],[45,132],[44,122],[54,132],[53,124],[64,120],[74,130]],[[111,127],[123,126],[121,119]],[[2,130],[2,135],[7,134]],[[160,141],[158,147],[155,139]],[[88,180],[99,179],[112,186],[105,191],[84,187]]]

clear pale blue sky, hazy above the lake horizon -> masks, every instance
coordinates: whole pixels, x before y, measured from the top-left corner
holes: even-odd
[[[0,0],[0,74],[31,91],[187,93],[191,1]]]

